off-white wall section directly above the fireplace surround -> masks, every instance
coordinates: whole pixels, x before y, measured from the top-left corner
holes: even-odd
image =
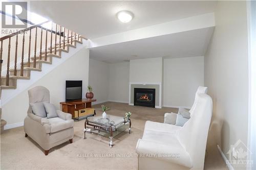
[[[130,82],[162,82],[162,57],[130,60]]]

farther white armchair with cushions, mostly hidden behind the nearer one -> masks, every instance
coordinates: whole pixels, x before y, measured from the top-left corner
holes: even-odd
[[[195,95],[195,100],[194,100],[194,104],[191,107],[191,109],[188,111],[184,108],[179,108],[178,114],[177,113],[165,113],[164,114],[164,123],[165,124],[172,124],[172,125],[177,125],[177,126],[183,126],[187,120],[190,118],[190,116],[193,114],[194,110],[195,110],[195,106],[197,103],[197,94],[200,93],[207,93],[207,87],[203,87],[203,86],[199,86]],[[177,117],[180,123],[177,123]]]

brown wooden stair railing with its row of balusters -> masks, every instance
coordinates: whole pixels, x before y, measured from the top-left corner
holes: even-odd
[[[79,40],[79,34],[73,32],[72,30],[69,30],[65,27],[61,27],[60,25],[57,25],[57,23],[52,22],[51,23],[51,29],[47,29],[45,27],[42,27],[42,25],[44,23],[47,23],[47,22],[51,22],[51,21],[47,20],[45,22],[30,26],[28,28],[16,31],[12,34],[9,34],[9,35],[6,35],[6,36],[0,38],[0,43],[1,43],[1,49],[0,49],[0,86],[2,85],[2,64],[3,64],[3,58],[2,57],[3,57],[3,42],[4,42],[4,40],[6,40],[6,41],[9,40],[8,41],[8,48],[6,47],[4,49],[5,53],[8,53],[8,54],[4,54],[4,56],[7,56],[7,69],[6,69],[6,77],[5,77],[5,79],[6,79],[5,85],[6,86],[9,86],[9,85],[12,86],[13,85],[13,82],[10,81],[10,76],[21,76],[21,77],[23,77],[25,67],[36,68],[37,57],[39,57],[39,60],[44,59],[45,61],[48,61],[48,54],[57,55],[57,53],[56,53],[57,52],[57,36],[58,36],[58,41],[59,41],[58,48],[63,48],[64,50],[67,46],[66,45],[66,40],[69,43],[69,40],[71,38],[71,44],[72,45],[73,45],[73,42],[75,40]],[[54,29],[53,28],[54,24],[55,24],[55,30],[53,30]],[[57,27],[59,27],[59,29],[57,29]],[[34,29],[34,28],[35,28],[35,33],[33,33],[33,35],[31,35],[32,29]],[[63,31],[61,31],[61,28],[63,28]],[[40,33],[41,33],[40,37],[38,37],[40,39],[37,38],[38,29],[40,29]],[[43,33],[44,30],[45,30],[45,35],[44,35],[44,37],[42,37],[42,33]],[[25,33],[27,31],[29,32],[29,39],[25,40]],[[69,35],[70,31],[71,31],[71,36]],[[66,32],[68,32],[68,35],[66,35]],[[50,37],[49,37],[50,52],[48,52],[48,50],[47,50],[48,49],[48,41],[49,41],[48,40],[48,33],[50,34]],[[17,63],[18,63],[18,61],[17,61],[18,47],[17,46],[18,46],[18,43],[20,43],[20,41],[18,41],[18,35],[19,34],[22,34],[23,38],[22,38],[22,48],[20,49],[21,50],[20,68],[17,68]],[[33,42],[34,44],[31,43],[32,42],[31,41],[32,36],[34,37],[34,42]],[[53,36],[54,36],[55,41],[53,40]],[[12,37],[16,37],[15,50],[11,49],[11,41],[13,41],[13,40],[11,40]],[[42,44],[44,38],[45,38],[45,41],[44,41],[44,44]],[[81,36],[80,36],[80,38],[81,38]],[[28,57],[28,62],[24,62],[25,48],[27,49],[27,47],[25,46],[25,41],[28,41],[28,42],[26,42],[26,43],[28,43],[28,56],[27,56]],[[63,44],[61,42],[63,42]],[[14,42],[12,42],[12,44],[13,43]],[[40,44],[40,48],[39,48],[40,55],[39,56],[37,56],[37,52],[36,52],[38,43]],[[55,44],[54,47],[52,46],[53,44]],[[31,56],[31,47],[32,47],[31,45],[34,45],[34,55],[33,56]],[[44,47],[42,45],[44,45]],[[45,49],[44,57],[42,56],[42,47],[43,47],[43,49]],[[10,69],[11,54],[14,55],[14,69],[13,70]],[[33,62],[31,62],[30,59],[33,59]]]

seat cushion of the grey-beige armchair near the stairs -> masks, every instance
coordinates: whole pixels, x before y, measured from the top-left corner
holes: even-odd
[[[51,126],[51,130],[50,130],[51,133],[74,127],[73,119],[63,120],[62,118],[59,118],[59,117],[53,117],[53,118],[49,118],[48,120]]]

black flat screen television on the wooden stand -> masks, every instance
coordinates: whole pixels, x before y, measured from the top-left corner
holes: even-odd
[[[66,81],[66,102],[82,99],[82,81]]]

